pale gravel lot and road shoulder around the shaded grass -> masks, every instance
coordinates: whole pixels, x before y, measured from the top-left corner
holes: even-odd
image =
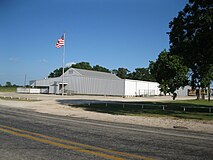
[[[150,116],[125,116],[111,115],[106,113],[97,113],[85,111],[81,108],[74,108],[61,102],[72,102],[80,104],[89,101],[119,101],[119,102],[145,102],[145,101],[168,101],[170,96],[156,97],[104,97],[104,96],[60,96],[60,95],[40,95],[40,94],[17,94],[17,93],[0,93],[0,96],[28,98],[39,101],[11,101],[0,99],[0,104],[22,109],[30,109],[40,113],[48,113],[61,116],[71,116],[87,118],[101,121],[137,124],[152,127],[188,129],[213,133],[213,121],[178,119],[172,117],[150,117]],[[178,97],[177,99],[192,99],[194,97]]]

